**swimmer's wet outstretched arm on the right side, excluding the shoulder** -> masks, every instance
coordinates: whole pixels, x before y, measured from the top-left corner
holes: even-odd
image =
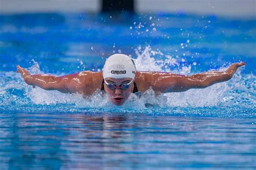
[[[233,63],[225,72],[206,72],[189,76],[177,74],[159,75],[152,88],[154,91],[161,93],[186,91],[191,88],[206,88],[212,84],[230,80],[238,67],[244,65],[244,62]]]

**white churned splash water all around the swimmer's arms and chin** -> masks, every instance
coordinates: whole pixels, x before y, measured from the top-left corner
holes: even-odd
[[[173,70],[180,73],[190,72],[191,66],[179,68],[178,61],[169,55],[165,59],[156,60],[151,58],[151,49],[146,47],[144,51],[137,51],[138,58],[135,59],[138,70],[151,70],[166,72],[165,65],[172,65]],[[159,53],[160,55],[160,53]],[[221,68],[224,70],[226,68]],[[29,68],[32,74],[41,73],[37,62]],[[185,71],[184,71],[185,70]],[[4,79],[0,80],[1,107],[6,107],[15,102],[17,105],[34,104],[56,105],[71,104],[75,108],[113,108],[114,106],[105,94],[96,91],[90,97],[84,98],[80,94],[63,94],[59,91],[47,91],[39,87],[28,86],[18,73],[1,73]],[[217,83],[204,89],[190,89],[182,93],[165,93],[156,95],[152,89],[147,90],[141,97],[131,94],[129,100],[122,107],[124,109],[144,109],[146,106],[157,107],[205,107],[205,106],[230,106],[230,105],[256,105],[255,76],[241,75],[240,69],[234,77],[227,82]],[[249,81],[250,83],[246,82]],[[12,93],[13,90],[25,91],[23,95]],[[240,91],[237,93],[236,91]],[[29,99],[29,100],[28,100]]]

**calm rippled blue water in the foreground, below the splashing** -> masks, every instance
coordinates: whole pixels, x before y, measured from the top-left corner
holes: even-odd
[[[256,120],[0,114],[0,167],[255,168]]]

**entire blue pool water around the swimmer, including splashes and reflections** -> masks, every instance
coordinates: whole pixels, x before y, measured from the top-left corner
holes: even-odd
[[[184,13],[0,15],[0,169],[256,168],[256,18]],[[114,53],[138,70],[195,74],[244,61],[205,89],[115,107],[96,92],[33,89],[17,74],[102,70]]]

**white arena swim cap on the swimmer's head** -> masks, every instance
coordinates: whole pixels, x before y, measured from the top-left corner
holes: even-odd
[[[134,80],[136,67],[130,56],[125,54],[111,55],[103,67],[103,78],[107,77],[122,79],[131,78]]]

